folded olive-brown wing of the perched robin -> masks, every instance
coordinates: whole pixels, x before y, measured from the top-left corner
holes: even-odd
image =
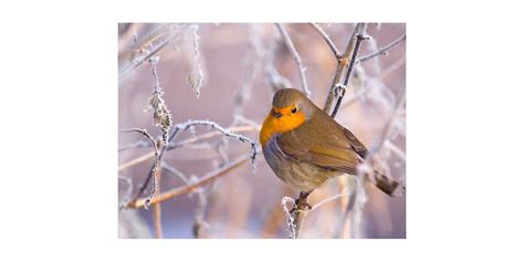
[[[302,163],[355,174],[366,147],[346,128],[319,112],[301,127],[280,135],[282,151]],[[360,155],[361,154],[361,155]]]

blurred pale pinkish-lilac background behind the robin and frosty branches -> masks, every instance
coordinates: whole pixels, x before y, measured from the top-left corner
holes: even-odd
[[[344,52],[355,24],[318,24]],[[337,66],[312,24],[284,24],[306,67],[311,98],[324,107]],[[404,23],[369,23],[359,54],[377,52],[406,34]],[[208,119],[258,143],[275,90],[302,91],[300,69],[275,24],[118,24],[118,127],[145,128],[155,138],[148,99],[155,86],[151,57],[174,125]],[[406,174],[406,42],[357,64],[336,120],[376,149],[389,176]],[[165,153],[160,193],[198,181],[241,156],[250,145],[196,126],[180,132]],[[143,186],[153,148],[138,133],[118,134],[118,235],[155,238],[155,210],[124,207]],[[281,202],[294,190],[269,168],[262,153],[203,187],[160,203],[164,238],[287,238]],[[146,196],[151,185],[145,190]],[[348,197],[356,195],[349,217]],[[406,238],[406,197],[390,198],[354,176],[327,181],[310,197],[321,206],[304,220],[302,238]]]

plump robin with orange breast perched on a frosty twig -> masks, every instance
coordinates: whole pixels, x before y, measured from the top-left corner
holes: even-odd
[[[302,92],[283,88],[260,132],[265,160],[285,184],[310,195],[327,179],[356,175],[368,150]],[[391,196],[398,182],[375,176],[375,185]]]

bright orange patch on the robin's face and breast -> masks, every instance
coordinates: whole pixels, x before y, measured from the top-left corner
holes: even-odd
[[[270,114],[265,117],[262,129],[260,130],[260,144],[262,144],[262,147],[265,147],[265,143],[268,143],[274,134],[291,132],[305,122],[305,115],[302,112],[291,114],[291,108],[275,111],[281,112],[282,117],[274,117],[273,109],[270,111]]]

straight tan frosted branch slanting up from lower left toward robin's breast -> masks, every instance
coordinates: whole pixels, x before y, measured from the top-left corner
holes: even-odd
[[[224,165],[223,167],[214,169],[214,170],[203,175],[197,181],[192,181],[191,184],[171,189],[169,191],[163,192],[163,193],[154,197],[150,200],[150,203],[163,202],[163,201],[166,201],[168,199],[171,199],[171,198],[191,192],[196,188],[202,187],[202,186],[213,181],[214,179],[224,176],[226,174],[233,170],[234,168],[240,167],[242,164],[248,161],[248,159],[249,159],[249,156],[241,156],[241,157],[230,161],[229,164]],[[144,198],[137,199],[137,200],[130,202],[129,207],[130,208],[142,208],[142,207],[145,206],[146,201],[147,201],[147,199],[144,199]]]

